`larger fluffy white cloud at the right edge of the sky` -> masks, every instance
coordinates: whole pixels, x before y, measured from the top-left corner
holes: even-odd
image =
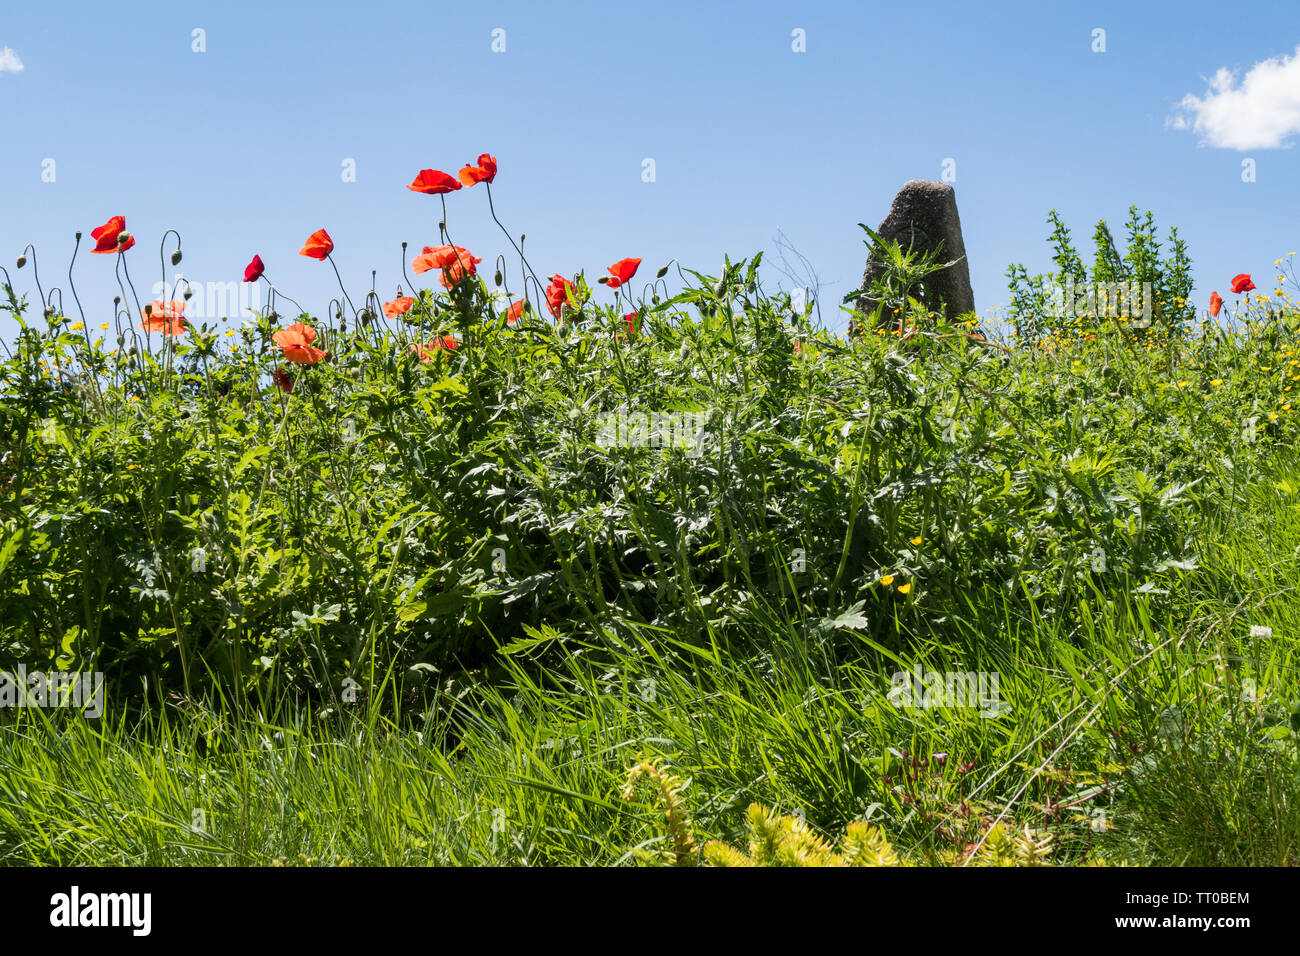
[[[1287,139],[1300,133],[1300,47],[1254,64],[1240,83],[1236,70],[1221,66],[1204,96],[1187,94],[1178,105],[1166,125],[1195,131],[1202,146],[1290,148]]]

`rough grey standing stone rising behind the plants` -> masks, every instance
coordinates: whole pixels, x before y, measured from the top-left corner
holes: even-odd
[[[924,280],[924,294],[916,298],[932,312],[944,310],[949,317],[975,311],[971,273],[966,263],[966,243],[962,241],[962,221],[957,215],[957,193],[952,186],[930,179],[904,183],[894,196],[893,206],[889,207],[889,215],[876,232],[884,239],[897,239],[905,251],[909,245],[918,254],[939,248],[939,261],[958,259],[956,265],[931,273]],[[884,264],[868,255],[862,287],[870,289],[883,273]],[[863,295],[857,302],[857,307],[867,313],[876,304],[870,295]]]

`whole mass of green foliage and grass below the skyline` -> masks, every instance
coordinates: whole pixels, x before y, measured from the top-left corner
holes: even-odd
[[[304,315],[291,393],[280,316],[29,325],[0,670],[104,671],[109,717],[0,713],[0,861],[746,862],[751,804],[801,808],[759,821],[789,861],[1300,860],[1297,317],[845,343],[722,273],[636,336],[481,284]],[[701,453],[629,411],[703,412]],[[892,702],[916,665],[1008,714]]]

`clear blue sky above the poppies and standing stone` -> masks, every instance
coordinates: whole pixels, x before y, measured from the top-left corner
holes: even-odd
[[[1202,307],[1239,272],[1271,289],[1273,261],[1300,246],[1300,61],[1257,68],[1300,51],[1294,3],[5,7],[0,261],[32,295],[30,267],[13,269],[27,242],[46,289],[66,286],[74,232],[84,250],[125,215],[142,300],[169,228],[190,281],[237,281],[256,252],[321,313],[333,272],[296,252],[324,226],[354,299],[372,268],[391,298],[400,242],[437,242],[438,200],[406,183],[481,152],[540,273],[594,280],[624,256],[645,278],[675,256],[716,273],[724,252],[772,258],[780,230],[835,330],[862,274],[857,222],[946,159],[982,312],[1005,303],[1009,263],[1050,268],[1052,208],[1089,261],[1096,221],[1131,204],[1179,226]],[[490,271],[508,246],[482,189],[447,206]],[[83,251],[75,278],[88,321],[108,321],[112,258]]]

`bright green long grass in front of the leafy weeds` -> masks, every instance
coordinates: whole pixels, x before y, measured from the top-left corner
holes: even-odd
[[[975,842],[982,816],[1005,816],[1053,832],[1062,862],[1292,865],[1300,520],[1294,496],[1261,484],[1249,497],[1239,514],[1262,519],[1254,533],[1242,519],[1217,529],[1200,572],[1243,581],[1235,602],[1184,580],[1160,620],[1149,597],[1097,597],[1080,602],[1083,633],[983,619],[928,649],[933,669],[998,670],[1011,718],[893,708],[879,672],[775,635],[744,661],[663,635],[571,646],[545,671],[512,657],[420,730],[378,713],[231,721],[186,708],[96,726],[27,711],[3,730],[0,847],[32,865],[620,864],[663,848],[655,803],[619,796],[628,767],[660,754],[690,779],[705,838],[738,840],[757,801],[827,834],[868,818],[928,862]],[[1249,637],[1253,622],[1273,639]],[[1162,732],[1171,708],[1176,734]],[[890,786],[904,752],[948,758]]]

